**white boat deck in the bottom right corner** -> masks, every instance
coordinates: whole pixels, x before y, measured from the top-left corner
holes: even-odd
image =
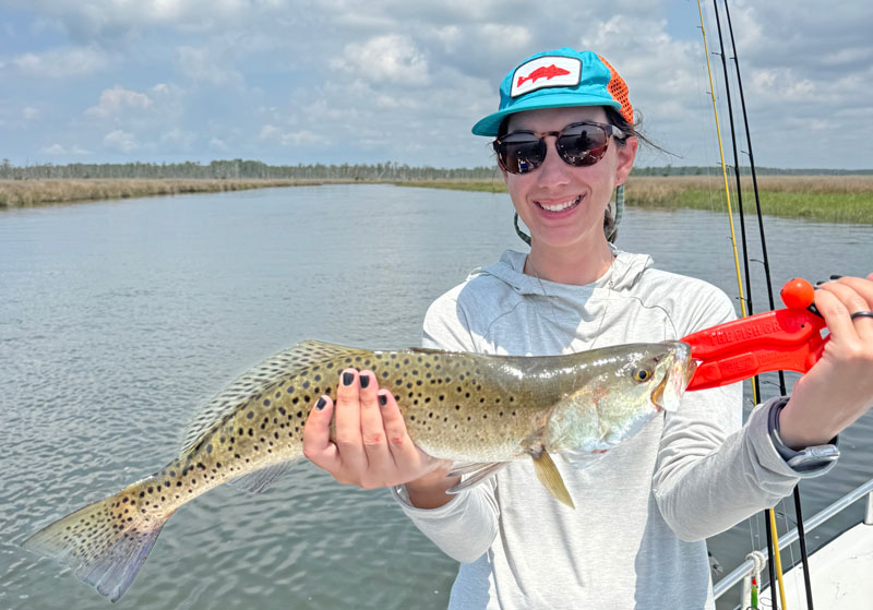
[[[810,574],[815,610],[873,610],[873,525],[856,525],[810,555]],[[803,565],[788,571],[784,582],[788,610],[805,610]],[[776,590],[778,599],[778,585]],[[769,589],[758,607],[773,608]]]

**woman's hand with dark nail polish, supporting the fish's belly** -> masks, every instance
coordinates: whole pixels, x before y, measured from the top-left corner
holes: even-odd
[[[303,455],[337,481],[367,489],[415,480],[436,486],[444,495],[456,482],[445,476],[451,461],[433,458],[412,443],[394,396],[379,388],[372,371],[344,370],[336,404],[330,396],[319,399],[303,428]]]

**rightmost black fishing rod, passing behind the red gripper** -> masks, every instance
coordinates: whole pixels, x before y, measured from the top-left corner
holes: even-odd
[[[715,3],[715,0],[713,0]],[[763,254],[763,264],[764,264],[764,277],[767,282],[767,299],[769,302],[770,310],[776,309],[774,297],[773,297],[773,278],[770,274],[770,263],[769,256],[767,255],[767,239],[764,231],[764,215],[761,211],[761,196],[758,194],[757,189],[757,172],[755,171],[755,156],[752,151],[752,132],[749,129],[749,113],[745,109],[745,95],[743,93],[743,81],[740,74],[740,60],[737,53],[737,41],[733,37],[733,25],[730,19],[730,9],[728,8],[728,0],[725,0],[725,16],[727,17],[728,22],[728,32],[730,34],[730,43],[731,48],[733,50],[733,64],[734,70],[737,71],[737,87],[740,93],[740,106],[742,108],[743,113],[743,124],[745,127],[745,141],[746,146],[749,148],[749,165],[752,171],[752,187],[755,194],[755,208],[757,212],[757,225],[758,225],[758,234],[761,236],[761,249]],[[716,20],[718,20],[718,10],[716,10]],[[721,38],[721,27],[719,26],[719,39]],[[723,61],[723,48],[722,48],[722,61]],[[727,82],[727,69],[725,80]],[[736,149],[736,148],[734,148]],[[738,188],[739,188],[739,171],[738,171]],[[751,295],[750,295],[750,307],[751,307]],[[757,378],[755,378],[757,380]],[[779,392],[782,396],[786,395],[786,381],[785,381],[785,372],[779,371]],[[798,528],[798,541],[800,543],[800,558],[803,563],[803,582],[805,585],[806,591],[806,607],[809,610],[813,610],[813,600],[812,600],[812,583],[810,582],[810,558],[806,552],[806,535],[803,527],[803,512],[801,510],[801,502],[800,502],[800,486],[794,486],[794,514],[797,517],[797,528]]]

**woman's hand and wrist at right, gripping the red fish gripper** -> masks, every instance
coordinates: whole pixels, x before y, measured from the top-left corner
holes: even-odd
[[[823,284],[815,307],[830,340],[779,415],[779,435],[793,448],[827,443],[873,406],[873,318],[851,319],[873,311],[873,274]]]

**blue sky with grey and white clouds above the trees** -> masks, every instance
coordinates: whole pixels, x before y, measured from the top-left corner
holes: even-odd
[[[757,165],[873,168],[873,2],[729,9]],[[717,51],[711,2],[704,17]],[[490,166],[473,123],[506,72],[561,46],[627,82],[670,153],[644,147],[638,166],[718,164],[689,0],[0,0],[0,158]]]

